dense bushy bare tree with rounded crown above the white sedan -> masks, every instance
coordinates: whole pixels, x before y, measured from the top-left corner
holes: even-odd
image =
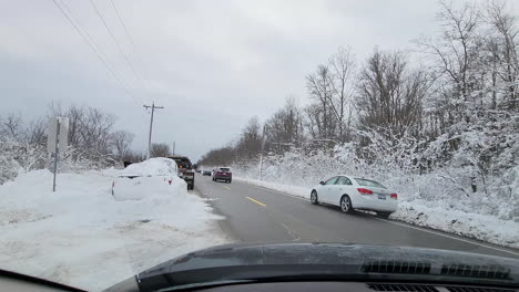
[[[363,127],[398,139],[421,119],[427,80],[410,70],[403,53],[375,50],[360,72],[355,105]]]

